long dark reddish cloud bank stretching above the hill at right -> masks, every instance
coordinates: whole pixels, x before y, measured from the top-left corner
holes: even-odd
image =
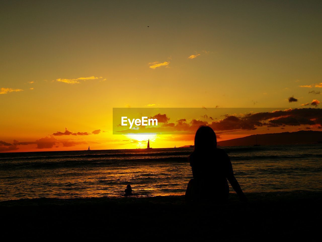
[[[317,100],[311,105],[318,105]],[[159,114],[160,115],[160,114]],[[194,134],[199,126],[207,125],[213,128],[217,134],[225,132],[235,132],[241,130],[255,130],[258,127],[285,127],[309,125],[311,127],[322,128],[322,109],[320,108],[289,108],[286,110],[275,110],[272,112],[249,113],[244,115],[225,115],[223,119],[218,121],[202,121],[192,119],[189,123],[186,119],[179,119],[175,123],[167,123],[170,119],[166,117],[159,127],[149,128],[147,133],[163,132],[180,132],[180,134]],[[135,131],[127,129],[118,131],[122,133],[146,133],[143,129]],[[174,133],[172,133],[174,134]]]

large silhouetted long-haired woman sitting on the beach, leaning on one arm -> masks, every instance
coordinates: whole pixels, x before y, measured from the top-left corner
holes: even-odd
[[[223,149],[217,148],[216,134],[209,126],[200,126],[194,137],[194,151],[189,156],[193,179],[188,183],[185,198],[188,201],[211,199],[228,200],[228,181],[239,198],[246,201],[236,180],[232,163]]]

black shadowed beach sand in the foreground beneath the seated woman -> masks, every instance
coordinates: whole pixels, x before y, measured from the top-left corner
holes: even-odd
[[[322,192],[236,194],[225,205],[184,196],[36,198],[0,203],[1,235],[170,241],[320,241]]]

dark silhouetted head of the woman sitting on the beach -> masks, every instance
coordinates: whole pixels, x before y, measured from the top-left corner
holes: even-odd
[[[217,138],[213,129],[209,126],[200,126],[194,136],[194,150],[204,151],[217,146]]]

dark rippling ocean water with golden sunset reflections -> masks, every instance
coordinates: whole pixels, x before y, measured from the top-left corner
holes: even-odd
[[[221,147],[245,192],[321,191],[322,145]],[[183,195],[191,148],[0,153],[0,201]]]

